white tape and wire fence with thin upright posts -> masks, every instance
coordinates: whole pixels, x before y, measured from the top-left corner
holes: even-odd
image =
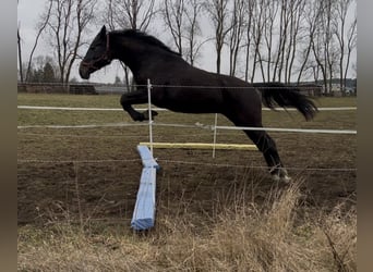
[[[214,132],[214,144],[216,143],[216,134],[217,129],[231,129],[231,131],[268,131],[268,132],[280,132],[280,133],[308,133],[308,134],[345,134],[345,135],[356,135],[357,131],[353,129],[308,129],[308,128],[276,128],[276,127],[246,127],[246,126],[221,126],[217,125],[215,122],[214,125],[205,125],[201,123],[195,123],[194,125],[190,124],[171,124],[171,123],[157,123],[152,121],[152,110],[166,110],[166,109],[159,109],[159,108],[152,108],[151,102],[151,91],[153,88],[156,87],[168,87],[168,88],[198,88],[198,89],[216,89],[216,88],[230,88],[230,89],[248,89],[248,86],[172,86],[172,85],[156,85],[151,84],[151,82],[147,82],[147,85],[135,85],[135,87],[143,87],[147,88],[148,91],[148,107],[143,109],[147,110],[149,114],[149,121],[148,124],[136,124],[136,123],[107,123],[107,124],[83,124],[83,125],[20,125],[17,126],[19,129],[27,129],[27,128],[56,128],[56,129],[63,129],[63,128],[98,128],[98,127],[124,127],[124,126],[144,126],[148,125],[149,127],[149,139],[151,139],[151,150],[153,153],[153,126],[169,126],[169,127],[189,127],[189,128],[203,128],[203,129],[209,129]],[[299,89],[302,86],[284,86],[284,87],[263,87],[263,88],[297,88]],[[250,87],[249,87],[250,88]],[[254,88],[254,87],[251,87]],[[255,87],[255,88],[262,88],[262,87]],[[302,88],[314,88],[303,86]],[[19,106],[17,109],[26,109],[26,110],[64,110],[64,111],[122,111],[122,109],[118,108],[70,108],[70,107],[39,107],[39,106]],[[139,110],[139,109],[137,109]],[[266,109],[269,110],[269,109]],[[284,110],[277,108],[276,110]],[[287,109],[290,110],[290,109]],[[320,108],[321,111],[340,111],[340,110],[357,110],[356,107],[338,107],[338,108]],[[216,120],[216,119],[215,119]],[[85,137],[85,136],[80,136]],[[98,136],[99,137],[99,136]],[[215,149],[213,150],[213,157],[215,158]],[[27,159],[19,159],[19,163],[101,163],[101,162],[127,162],[127,161],[133,161],[131,160],[61,160],[61,161],[55,161],[55,160],[27,160]],[[139,159],[140,160],[140,159]],[[245,168],[246,165],[229,165],[229,164],[216,164],[216,163],[200,163],[200,162],[188,162],[188,161],[172,161],[172,160],[163,160],[167,163],[184,163],[184,164],[198,164],[198,165],[213,165],[213,166],[234,166],[234,168]],[[251,168],[263,168],[267,169],[266,166],[251,166]],[[357,171],[354,168],[334,168],[334,169],[320,169],[320,168],[288,168],[293,170],[304,170],[304,171]]]

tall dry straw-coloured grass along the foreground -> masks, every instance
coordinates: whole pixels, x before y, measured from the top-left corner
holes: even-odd
[[[220,199],[208,219],[159,214],[134,234],[56,221],[19,228],[20,271],[356,271],[357,214],[320,211],[300,221],[299,184],[276,188],[257,206],[245,191]],[[200,217],[201,221],[198,221]],[[200,222],[200,223],[196,223]],[[204,222],[204,223],[201,223]]]

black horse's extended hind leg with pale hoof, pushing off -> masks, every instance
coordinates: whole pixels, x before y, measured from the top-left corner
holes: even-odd
[[[275,181],[290,182],[287,170],[277,152],[276,143],[264,131],[244,131],[251,140],[256,145],[257,149],[263,153],[264,159],[269,166],[269,173]]]

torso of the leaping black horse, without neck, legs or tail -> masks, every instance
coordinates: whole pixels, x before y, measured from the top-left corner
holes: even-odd
[[[157,73],[164,88],[159,101],[154,100],[156,106],[185,113],[222,113],[229,119],[261,114],[261,94],[242,79],[207,72],[181,60]]]

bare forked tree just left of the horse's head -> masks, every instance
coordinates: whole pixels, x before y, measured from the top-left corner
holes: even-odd
[[[51,8],[48,29],[55,48],[61,83],[68,83],[71,69],[83,45],[82,33],[94,18],[97,0],[49,0]]]

